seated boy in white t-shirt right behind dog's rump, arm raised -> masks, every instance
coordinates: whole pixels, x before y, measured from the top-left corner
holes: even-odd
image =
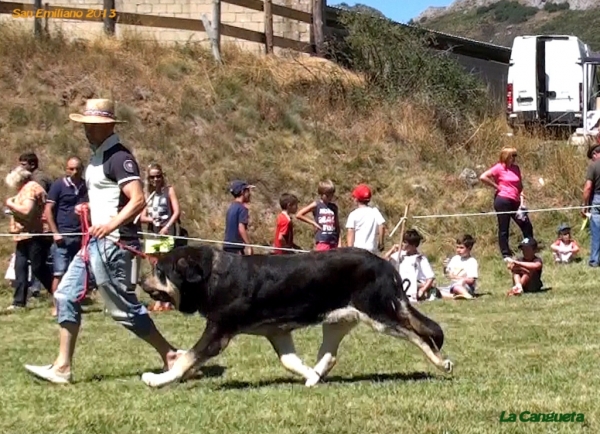
[[[435,298],[435,274],[427,257],[418,249],[422,239],[419,232],[410,229],[402,238],[402,250],[396,244],[384,255],[384,259],[396,267],[400,277],[410,282],[410,286],[404,290],[411,301],[424,300],[430,292]]]

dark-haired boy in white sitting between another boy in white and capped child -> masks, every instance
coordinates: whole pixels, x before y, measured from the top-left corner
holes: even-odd
[[[456,255],[444,261],[444,274],[450,278],[450,286],[440,288],[442,298],[472,299],[475,295],[479,264],[471,256],[475,239],[464,235],[456,240]]]

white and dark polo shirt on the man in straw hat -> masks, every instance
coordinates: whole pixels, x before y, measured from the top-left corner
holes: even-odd
[[[85,170],[92,225],[106,224],[113,219],[129,199],[121,189],[139,179],[140,170],[133,154],[113,134],[92,154]],[[137,240],[140,238],[141,223],[133,219],[111,232],[107,238],[115,240]]]

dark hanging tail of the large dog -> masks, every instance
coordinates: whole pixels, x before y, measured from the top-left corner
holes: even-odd
[[[415,332],[434,352],[439,352],[444,345],[444,332],[440,325],[419,312],[405,294],[404,281],[395,267],[394,281],[396,284],[396,297],[392,301],[393,314],[400,321],[403,328]]]

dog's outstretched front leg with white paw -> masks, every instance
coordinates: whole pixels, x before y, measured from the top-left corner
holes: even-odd
[[[230,340],[231,336],[222,333],[217,324],[209,322],[198,342],[192,349],[180,356],[171,369],[161,374],[145,372],[142,375],[142,381],[150,387],[162,387],[179,381],[190,369],[199,367],[208,359],[219,355]]]

